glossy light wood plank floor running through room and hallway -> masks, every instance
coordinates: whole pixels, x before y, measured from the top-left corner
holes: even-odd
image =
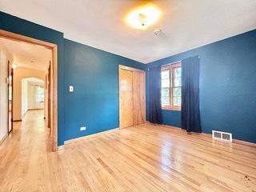
[[[256,148],[144,124],[53,153],[30,111],[0,146],[0,191],[256,191]]]

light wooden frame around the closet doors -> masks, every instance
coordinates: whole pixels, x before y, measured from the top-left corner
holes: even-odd
[[[136,68],[133,68],[133,67],[130,67],[130,66],[124,66],[122,64],[119,64],[118,66],[118,103],[119,103],[119,107],[118,107],[118,110],[119,110],[119,129],[122,129],[120,127],[120,122],[121,122],[121,98],[120,98],[120,70],[131,70],[131,71],[139,71],[139,72],[142,72],[144,74],[144,84],[145,84],[145,92],[144,92],[144,98],[145,98],[145,117],[144,117],[144,122],[146,122],[146,71],[145,70],[139,70],[139,69],[136,69]]]

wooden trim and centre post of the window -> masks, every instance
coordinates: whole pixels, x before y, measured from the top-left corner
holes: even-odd
[[[170,77],[170,87],[169,87],[169,99],[170,99],[170,105],[169,106],[162,106],[162,110],[182,110],[182,107],[174,106],[174,100],[173,100],[173,90],[174,90],[174,69],[182,67],[182,62],[177,62],[174,64],[170,64],[167,66],[162,66],[161,71],[163,70],[169,70],[169,77]],[[162,87],[161,87],[162,88]]]

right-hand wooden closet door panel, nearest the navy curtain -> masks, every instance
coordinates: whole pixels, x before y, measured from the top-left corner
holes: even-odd
[[[145,122],[145,73],[133,71],[134,126]]]

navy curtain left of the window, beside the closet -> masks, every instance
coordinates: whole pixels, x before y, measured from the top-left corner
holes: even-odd
[[[149,121],[162,123],[161,109],[161,69],[153,67],[149,69]]]

